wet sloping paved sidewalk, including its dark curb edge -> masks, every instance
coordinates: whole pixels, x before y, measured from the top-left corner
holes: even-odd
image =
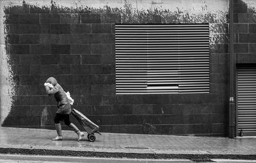
[[[193,136],[87,134],[77,142],[72,131],[63,131],[63,141],[52,141],[56,131],[0,127],[0,153],[28,155],[71,155],[84,157],[127,157],[148,159],[256,159],[256,138]],[[15,138],[15,139],[13,139]]]

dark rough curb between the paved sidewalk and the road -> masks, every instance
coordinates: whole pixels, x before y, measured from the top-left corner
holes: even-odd
[[[26,148],[0,148],[1,154],[21,155],[58,155],[73,157],[105,157],[105,158],[129,158],[129,159],[243,159],[256,160],[256,155],[231,155],[231,154],[173,154],[173,153],[124,153],[124,152],[92,152],[75,150],[47,150]]]

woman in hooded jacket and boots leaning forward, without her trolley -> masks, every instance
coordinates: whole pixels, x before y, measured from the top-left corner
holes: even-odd
[[[57,101],[57,111],[54,118],[54,124],[57,131],[57,137],[52,139],[53,141],[61,141],[62,140],[62,134],[61,134],[61,124],[60,121],[64,121],[65,125],[73,129],[74,132],[77,133],[78,139],[77,141],[80,141],[84,133],[81,132],[76,125],[72,124],[69,120],[69,115],[71,113],[71,106],[70,102],[68,101],[68,97],[64,90],[62,89],[61,85],[58,84],[57,80],[53,77],[50,77],[46,80],[44,83],[46,93],[51,96],[54,95],[56,101]]]

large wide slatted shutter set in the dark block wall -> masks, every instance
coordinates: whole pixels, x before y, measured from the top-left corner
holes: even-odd
[[[209,93],[209,24],[115,25],[116,94]]]

